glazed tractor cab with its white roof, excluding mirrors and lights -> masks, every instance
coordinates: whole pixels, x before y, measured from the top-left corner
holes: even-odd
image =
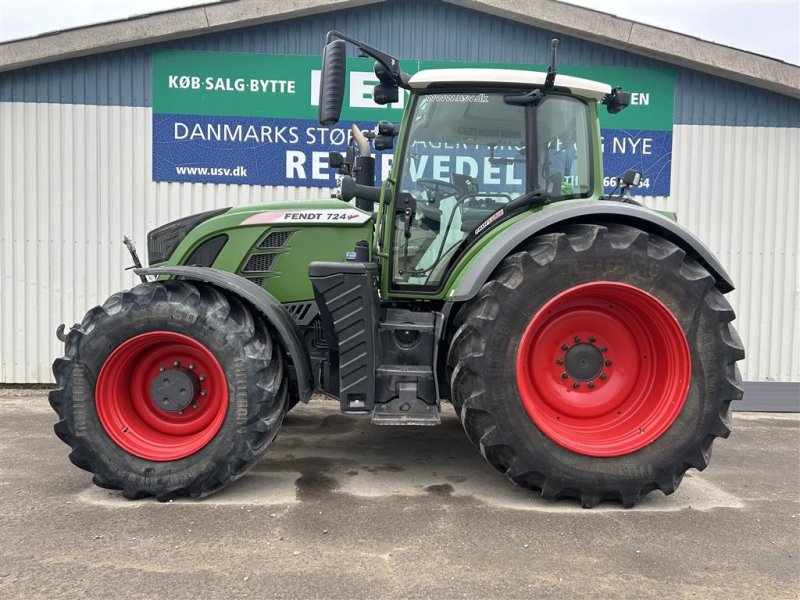
[[[535,205],[598,193],[594,103],[566,88],[529,100],[544,81],[542,73],[499,69],[411,77],[384,239],[393,291],[436,291],[492,226]],[[585,84],[597,96],[608,91]]]

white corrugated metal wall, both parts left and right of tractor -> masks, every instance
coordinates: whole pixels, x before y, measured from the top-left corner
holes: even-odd
[[[54,331],[136,283],[124,234],[235,204],[324,196],[319,188],[151,181],[149,108],[0,103],[0,381],[50,381]],[[800,131],[676,126],[677,210],[730,270],[747,380],[800,379]],[[142,248],[143,249],[143,248]]]

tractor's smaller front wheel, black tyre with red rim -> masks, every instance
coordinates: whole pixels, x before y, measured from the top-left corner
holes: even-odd
[[[286,412],[270,330],[210,285],[166,281],[114,294],[70,331],[53,372],[54,429],[70,460],[130,499],[229,485]]]

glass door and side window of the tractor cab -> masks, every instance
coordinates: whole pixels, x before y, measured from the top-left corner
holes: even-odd
[[[395,285],[438,287],[467,236],[525,193],[541,189],[550,201],[591,193],[587,105],[552,94],[521,106],[507,94],[417,98],[396,196],[398,206],[413,198],[415,210],[395,215]]]

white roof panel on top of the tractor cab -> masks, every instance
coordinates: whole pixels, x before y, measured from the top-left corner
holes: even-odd
[[[547,73],[537,71],[521,71],[516,69],[426,69],[411,76],[409,85],[412,88],[425,89],[440,84],[494,84],[494,85],[544,85]],[[555,86],[568,88],[576,96],[602,100],[611,93],[611,86],[580,77],[556,75]]]

